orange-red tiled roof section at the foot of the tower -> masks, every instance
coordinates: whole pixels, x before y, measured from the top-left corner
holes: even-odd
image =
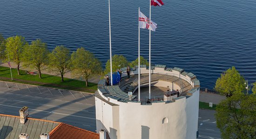
[[[50,133],[50,139],[100,139],[100,135],[64,123],[56,126]]]

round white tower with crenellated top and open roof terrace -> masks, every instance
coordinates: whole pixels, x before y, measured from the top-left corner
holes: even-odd
[[[142,67],[141,87],[148,86],[148,69]],[[137,68],[129,78],[123,73],[117,85],[99,82],[95,93],[97,133],[106,129],[110,139],[195,139],[200,90],[196,76],[180,68],[155,65],[151,86],[166,91],[153,91],[150,100],[141,94],[137,101]],[[131,100],[128,91],[133,92]]]

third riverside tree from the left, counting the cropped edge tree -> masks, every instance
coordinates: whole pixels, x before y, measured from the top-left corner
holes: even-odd
[[[37,69],[39,78],[41,79],[41,68],[47,63],[48,53],[46,43],[37,39],[32,41],[30,45],[24,47],[21,59],[25,67]]]

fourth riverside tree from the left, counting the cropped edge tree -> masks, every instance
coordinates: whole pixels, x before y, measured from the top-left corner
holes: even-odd
[[[61,73],[61,82],[64,82],[63,76],[69,68],[70,58],[69,49],[63,45],[56,46],[49,54],[48,66],[53,71]]]

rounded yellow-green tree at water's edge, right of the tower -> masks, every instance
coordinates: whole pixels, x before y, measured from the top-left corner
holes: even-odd
[[[235,67],[229,68],[221,74],[221,77],[217,79],[215,89],[221,95],[230,97],[234,94],[245,92],[245,80],[243,76],[240,76]]]

